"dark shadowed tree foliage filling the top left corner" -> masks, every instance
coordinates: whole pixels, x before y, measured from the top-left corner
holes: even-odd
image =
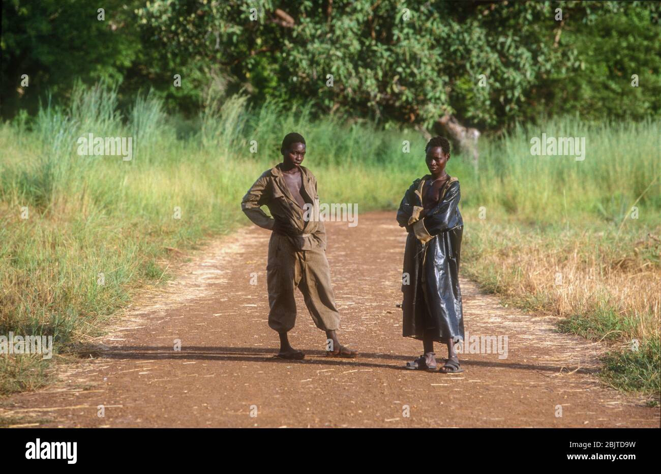
[[[105,20],[98,20],[104,8]],[[36,110],[46,92],[68,95],[77,79],[119,83],[136,58],[134,7],[108,0],[7,0],[2,3],[5,110]],[[27,74],[28,87],[21,87]]]

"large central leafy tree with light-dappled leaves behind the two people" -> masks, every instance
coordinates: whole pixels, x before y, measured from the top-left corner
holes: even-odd
[[[586,62],[600,61],[603,52],[595,46],[600,58],[586,58],[592,51],[586,45],[598,44],[600,28],[633,9],[639,9],[639,26],[658,11],[576,1],[160,0],[137,13],[143,38],[169,63],[184,70],[200,63],[215,67],[257,101],[277,97],[427,127],[455,114],[487,128],[555,104],[549,89],[562,88],[562,78]],[[602,26],[581,36],[596,20]],[[646,34],[641,43],[655,37]],[[604,80],[617,79],[614,74],[602,71]],[[333,87],[327,86],[329,75]],[[586,91],[571,84],[575,89],[566,95],[575,104]],[[646,110],[658,106],[650,102]]]

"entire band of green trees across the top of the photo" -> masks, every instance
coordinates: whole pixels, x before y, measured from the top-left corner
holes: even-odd
[[[15,92],[20,74],[32,71],[36,86],[59,93],[77,77],[122,79],[120,99],[153,87],[184,112],[243,90],[256,104],[427,127],[447,114],[493,129],[542,114],[661,113],[656,3],[108,3],[106,22],[91,0],[3,3],[5,106],[24,93]],[[631,87],[632,74],[640,87]]]

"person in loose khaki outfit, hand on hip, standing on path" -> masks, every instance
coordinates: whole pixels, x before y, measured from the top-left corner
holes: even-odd
[[[326,259],[326,230],[321,220],[306,219],[305,204],[312,206],[317,196],[317,180],[305,167],[305,139],[288,134],[280,148],[282,163],[254,182],[243,196],[241,209],[259,227],[273,231],[268,243],[266,284],[268,286],[268,325],[280,335],[278,357],[299,360],[287,337],[296,322],[294,288],[301,290],[315,325],[332,340],[327,356],[356,357],[358,352],[342,346],[335,333],[340,314],[335,307],[331,272]],[[267,206],[273,217],[260,207]]]

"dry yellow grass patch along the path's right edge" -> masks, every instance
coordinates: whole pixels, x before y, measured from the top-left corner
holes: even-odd
[[[485,286],[518,298],[525,306],[563,319],[613,311],[626,329],[611,338],[658,338],[658,229],[642,236],[630,229],[618,239],[615,233],[558,231],[549,235],[548,230],[538,233],[479,221],[469,226],[463,255],[467,271]]]

